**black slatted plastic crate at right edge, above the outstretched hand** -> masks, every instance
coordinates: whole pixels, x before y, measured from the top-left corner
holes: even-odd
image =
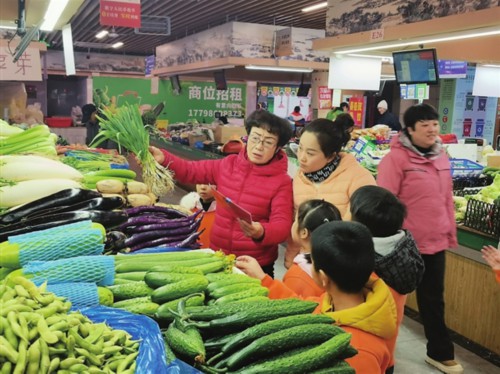
[[[500,207],[483,201],[470,199],[467,202],[464,226],[491,235],[500,237]]]

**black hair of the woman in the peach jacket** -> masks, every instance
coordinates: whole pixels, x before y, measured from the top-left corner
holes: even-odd
[[[335,121],[326,118],[318,118],[304,128],[304,132],[316,135],[321,152],[325,157],[331,157],[340,152],[343,146],[351,140],[351,130],[354,120],[349,113],[342,113]]]

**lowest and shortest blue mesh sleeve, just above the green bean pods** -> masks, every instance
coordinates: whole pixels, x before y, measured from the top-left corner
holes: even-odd
[[[95,283],[48,284],[47,291],[71,301],[71,310],[99,305],[99,295]]]

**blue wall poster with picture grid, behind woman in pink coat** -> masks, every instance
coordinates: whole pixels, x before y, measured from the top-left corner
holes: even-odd
[[[447,79],[441,84],[439,111],[441,118],[446,116],[446,125],[442,128],[459,139],[482,138],[493,144],[498,98],[472,95],[475,70],[469,66],[466,78]]]

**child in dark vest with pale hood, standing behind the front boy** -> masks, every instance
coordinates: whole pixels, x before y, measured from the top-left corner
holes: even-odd
[[[402,230],[406,208],[390,191],[378,186],[363,186],[351,196],[352,220],[364,224],[373,235],[375,273],[390,287],[396,303],[397,330],[403,322],[406,295],[415,291],[424,274],[424,261],[413,236]],[[394,372],[397,334],[387,345],[391,363],[386,373]]]

